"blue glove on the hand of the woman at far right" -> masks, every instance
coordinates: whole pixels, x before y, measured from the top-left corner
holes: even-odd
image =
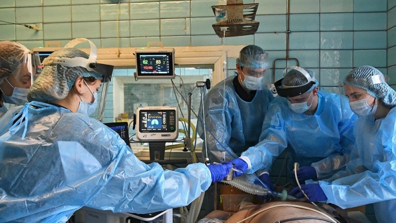
[[[311,202],[327,201],[326,194],[317,183],[301,184],[301,190],[304,191]],[[297,198],[303,198],[305,196],[302,194],[301,190],[300,188],[295,187],[289,192],[289,195],[296,196]]]

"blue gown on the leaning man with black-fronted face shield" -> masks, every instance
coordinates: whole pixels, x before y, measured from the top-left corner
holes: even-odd
[[[319,178],[330,177],[348,161],[355,120],[347,98],[338,94],[319,91],[313,115],[292,111],[288,100],[278,96],[269,106],[260,142],[242,153],[251,163],[247,172],[269,171],[275,158],[289,147],[293,162],[315,167]]]

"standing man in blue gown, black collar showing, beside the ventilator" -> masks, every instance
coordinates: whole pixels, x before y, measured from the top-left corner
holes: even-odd
[[[268,54],[258,46],[248,45],[240,51],[236,63],[237,75],[216,84],[205,97],[203,128],[198,134],[204,138],[211,162],[237,158],[250,146],[258,143],[262,121],[273,93],[265,86],[269,70]],[[205,153],[202,153],[205,155]]]

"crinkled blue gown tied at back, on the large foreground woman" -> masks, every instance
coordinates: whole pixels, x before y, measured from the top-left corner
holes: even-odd
[[[211,183],[204,164],[144,164],[85,114],[38,102],[19,110],[0,119],[0,222],[66,222],[83,206],[161,211],[190,204]]]

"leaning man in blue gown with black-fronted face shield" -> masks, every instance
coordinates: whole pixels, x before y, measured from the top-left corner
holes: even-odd
[[[269,106],[260,142],[232,162],[247,161],[238,167],[247,173],[257,169],[269,172],[275,158],[290,148],[292,163],[302,166],[297,171],[299,182],[330,177],[348,162],[356,115],[346,97],[319,91],[311,70],[293,66],[285,69],[285,74],[275,83],[279,96]],[[294,172],[291,174],[295,179]],[[272,185],[268,173],[260,178]]]

